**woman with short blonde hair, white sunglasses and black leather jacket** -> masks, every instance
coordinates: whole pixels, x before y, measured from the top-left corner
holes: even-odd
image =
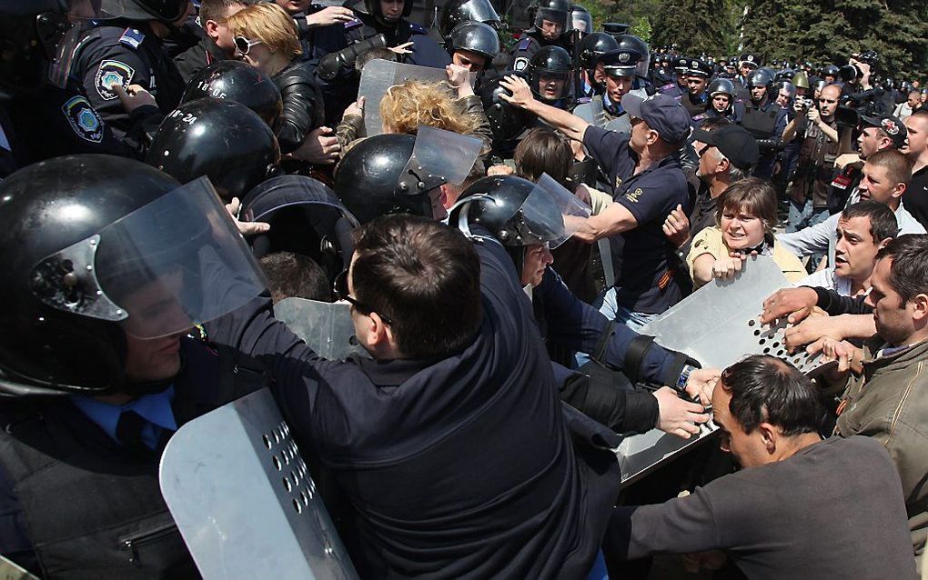
[[[228,17],[236,56],[274,79],[283,99],[275,133],[281,153],[291,153],[322,125],[325,109],[293,19],[274,3],[247,6]]]

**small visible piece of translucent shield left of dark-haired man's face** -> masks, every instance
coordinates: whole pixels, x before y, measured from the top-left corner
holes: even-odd
[[[274,305],[274,317],[323,358],[341,360],[349,354],[370,358],[354,336],[349,303],[285,298]]]

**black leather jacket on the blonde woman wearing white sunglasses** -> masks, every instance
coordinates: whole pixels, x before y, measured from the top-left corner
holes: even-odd
[[[303,145],[306,135],[325,121],[322,90],[302,60],[295,60],[274,75],[284,109],[277,124],[277,143],[281,153]]]

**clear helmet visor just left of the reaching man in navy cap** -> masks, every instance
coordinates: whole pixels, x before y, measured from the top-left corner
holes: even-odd
[[[531,238],[557,248],[589,217],[590,210],[548,174],[542,174],[522,202],[523,226]]]

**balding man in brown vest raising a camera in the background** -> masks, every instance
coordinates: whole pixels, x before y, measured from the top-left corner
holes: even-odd
[[[797,97],[793,105],[796,117],[783,130],[783,140],[787,142],[802,135],[799,161],[790,188],[788,232],[814,226],[828,218],[832,168],[840,147],[838,124],[834,121],[840,96],[841,88],[829,84],[821,90],[818,107],[813,106],[811,99]]]

